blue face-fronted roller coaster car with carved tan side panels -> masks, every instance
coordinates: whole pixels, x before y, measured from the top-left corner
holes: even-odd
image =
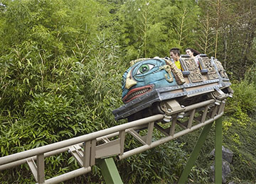
[[[230,80],[218,59],[200,54],[198,60],[199,66],[188,55],[181,55],[182,71],[165,58],[130,62],[122,76],[124,105],[112,111],[115,120],[130,122],[159,113],[182,117],[188,105],[232,97]]]

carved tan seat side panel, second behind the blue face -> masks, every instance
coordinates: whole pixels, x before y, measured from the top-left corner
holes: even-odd
[[[199,57],[199,64],[201,69],[208,69],[208,79],[218,79],[218,74],[208,57]]]

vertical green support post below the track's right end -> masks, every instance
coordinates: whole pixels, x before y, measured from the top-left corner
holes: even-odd
[[[222,183],[222,119],[215,122],[215,183]]]

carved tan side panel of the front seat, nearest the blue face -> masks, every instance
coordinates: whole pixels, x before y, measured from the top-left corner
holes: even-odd
[[[188,79],[190,79],[191,82],[203,81],[203,76],[202,76],[201,72],[199,71],[199,68],[196,65],[196,62],[193,59],[183,58],[183,59],[181,59],[181,65],[182,65],[184,71],[190,72],[190,74],[188,75]]]

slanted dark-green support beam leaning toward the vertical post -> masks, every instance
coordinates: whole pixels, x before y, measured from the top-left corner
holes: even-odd
[[[198,138],[198,141],[196,142],[196,145],[193,148],[191,156],[188,159],[188,163],[186,164],[183,172],[181,173],[181,178],[178,180],[178,184],[186,183],[186,180],[188,179],[188,174],[191,172],[191,168],[193,167],[198,157],[199,151],[201,150],[203,143],[205,142],[206,137],[208,135],[208,132],[210,131],[210,127],[212,127],[212,125],[213,125],[213,122],[203,127],[200,137]]]

